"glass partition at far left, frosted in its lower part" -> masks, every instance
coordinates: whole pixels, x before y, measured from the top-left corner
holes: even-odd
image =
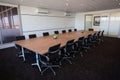
[[[4,11],[1,13],[0,20],[0,40],[2,40],[2,43],[15,41],[15,37],[20,35],[17,8],[10,9],[10,7],[5,8],[3,6],[0,6],[0,8]]]

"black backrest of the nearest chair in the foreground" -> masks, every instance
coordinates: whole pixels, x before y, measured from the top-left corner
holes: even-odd
[[[49,62],[56,62],[60,57],[60,44],[54,45],[48,50]]]

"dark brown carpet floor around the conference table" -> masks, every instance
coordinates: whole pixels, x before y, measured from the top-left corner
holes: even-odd
[[[120,80],[120,39],[103,37],[104,42],[91,48],[73,64],[63,62],[55,68],[56,76],[48,70],[41,75],[36,66],[16,56],[14,47],[0,50],[0,80]]]

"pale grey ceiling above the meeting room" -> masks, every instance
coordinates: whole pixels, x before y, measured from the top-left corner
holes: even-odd
[[[88,12],[120,8],[120,0],[0,0],[0,2],[68,12]]]

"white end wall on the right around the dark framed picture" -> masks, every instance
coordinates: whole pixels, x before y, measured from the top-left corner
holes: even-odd
[[[75,19],[75,27],[84,29],[85,24],[85,15],[92,14],[94,16],[101,16],[100,18],[100,26],[92,26],[96,31],[104,30],[105,35],[108,36],[120,36],[120,9],[112,9],[112,10],[104,10],[104,11],[94,11],[94,12],[85,12],[85,13],[77,13]],[[118,15],[119,14],[119,15]],[[114,21],[112,18],[116,18]]]

